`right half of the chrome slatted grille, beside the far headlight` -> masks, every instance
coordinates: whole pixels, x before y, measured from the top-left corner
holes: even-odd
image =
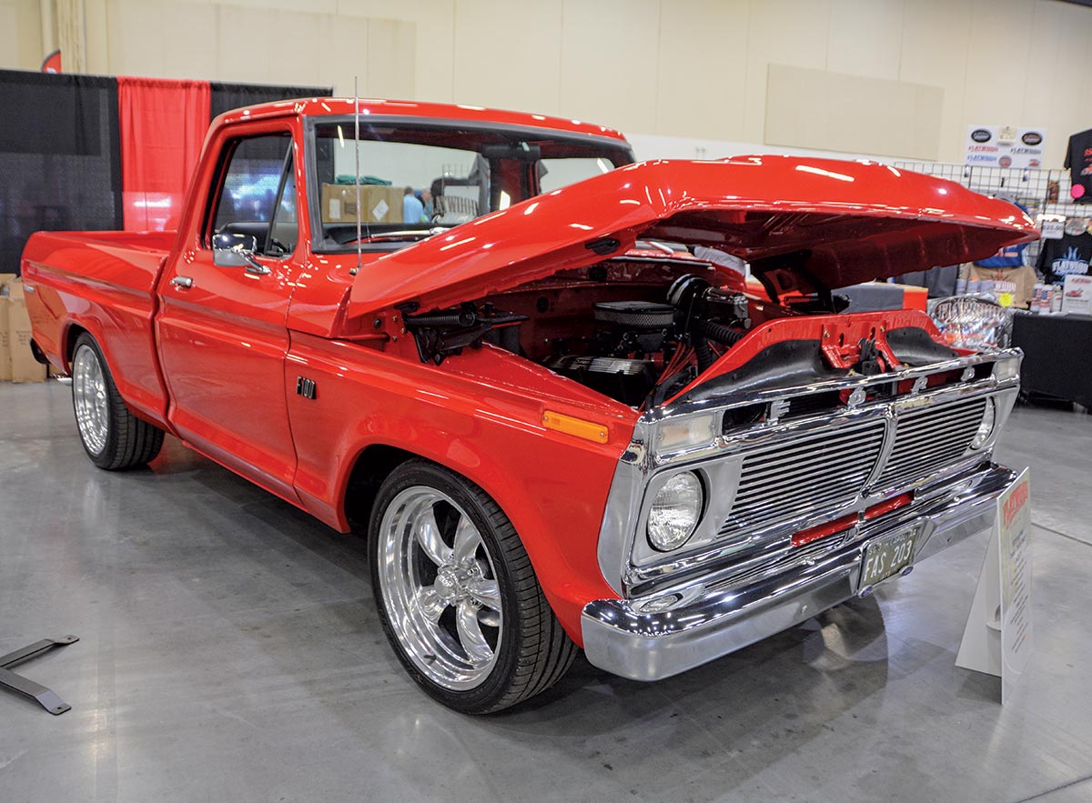
[[[971,445],[985,409],[986,399],[975,398],[900,412],[894,447],[876,486],[907,486],[956,463]]]

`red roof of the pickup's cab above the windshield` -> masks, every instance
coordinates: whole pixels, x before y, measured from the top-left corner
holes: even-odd
[[[498,125],[521,125],[526,128],[563,131],[566,133],[606,136],[626,142],[626,137],[615,129],[595,125],[581,120],[568,120],[561,117],[530,115],[524,111],[507,111],[505,109],[487,109],[482,106],[463,104],[428,104],[413,100],[380,100],[360,98],[360,116],[364,119],[370,115],[383,117],[417,117],[432,120],[464,120]],[[298,100],[277,100],[268,104],[247,106],[241,109],[226,111],[213,121],[213,125],[257,120],[285,115],[305,117],[345,117],[353,113],[353,98],[348,97],[307,97]]]

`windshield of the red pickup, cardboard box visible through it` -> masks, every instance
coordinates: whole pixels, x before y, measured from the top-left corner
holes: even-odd
[[[361,240],[406,244],[632,161],[627,143],[605,137],[456,125],[364,118],[355,143],[352,118],[318,122],[309,188],[322,225],[317,250],[356,248],[358,196]]]

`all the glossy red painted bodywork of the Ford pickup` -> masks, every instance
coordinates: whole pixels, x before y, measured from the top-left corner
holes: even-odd
[[[587,123],[471,107],[366,100],[361,110],[372,119],[408,116],[621,140]],[[462,474],[511,518],[547,598],[578,643],[581,608],[613,596],[598,567],[597,536],[638,414],[488,345],[440,365],[423,364],[393,304],[478,299],[587,265],[601,256],[586,244],[602,237],[619,240],[616,255],[638,236],[703,242],[746,259],[808,244],[818,254],[809,267],[838,281],[862,271],[889,275],[933,264],[937,255],[985,255],[1032,237],[1031,223],[1014,207],[876,165],[650,163],[394,253],[366,254],[354,278],[354,254],[311,252],[302,151],[302,116],[352,112],[351,100],[317,98],[217,118],[177,238],[35,235],[23,269],[37,290],[27,296],[36,341],[63,367],[67,332],[88,329],[134,411],[341,530],[348,526],[349,476],[369,447],[393,446]],[[296,148],[296,251],[263,260],[271,268],[265,276],[216,267],[203,242],[202,217],[221,149],[237,133],[283,130],[292,132]],[[842,178],[832,177],[839,171]],[[900,204],[890,205],[897,199]],[[173,286],[177,276],[192,278],[192,287]],[[734,274],[724,278],[738,284]],[[824,326],[856,336],[877,322],[895,325],[899,315],[928,326],[916,313],[771,321],[712,371],[732,370],[773,339],[814,337]],[[296,395],[298,376],[316,382],[316,398]],[[547,409],[601,424],[606,443],[546,430]]]

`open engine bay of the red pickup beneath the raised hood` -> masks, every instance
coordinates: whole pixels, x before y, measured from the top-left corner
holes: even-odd
[[[687,395],[807,385],[956,355],[913,317],[922,313],[894,311],[873,323],[851,321],[853,315],[844,324],[824,317],[829,323],[809,325],[805,322],[816,315],[835,315],[844,300],[827,292],[778,303],[744,287],[738,274],[685,251],[629,254],[559,271],[459,308],[423,314],[414,304],[400,309],[425,362],[439,364],[464,348],[490,343],[638,410],[675,397],[755,327],[770,322],[787,334],[750,348],[746,364],[703,380],[704,391]]]

